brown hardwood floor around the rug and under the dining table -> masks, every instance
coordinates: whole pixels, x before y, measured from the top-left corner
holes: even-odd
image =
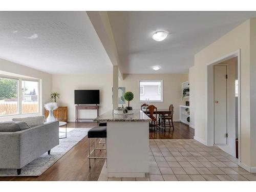
[[[73,123],[69,122],[68,127],[90,128],[96,126],[96,123]],[[187,125],[179,122],[174,124],[174,132],[150,131],[150,139],[192,139],[194,130]],[[98,142],[97,140],[96,142]],[[93,147],[94,140],[91,145]],[[54,163],[45,173],[38,177],[0,177],[0,181],[97,181],[100,175],[104,160],[91,160],[91,169],[89,168],[88,156],[88,138],[83,138],[68,153]],[[104,156],[105,152],[97,152],[97,155]]]

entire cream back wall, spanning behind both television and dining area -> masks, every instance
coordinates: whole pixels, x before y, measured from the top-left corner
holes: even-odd
[[[181,98],[181,82],[188,80],[188,74],[159,74],[159,75],[131,75],[124,74],[124,79],[119,79],[119,87],[125,87],[126,91],[134,93],[131,106],[140,109],[138,102],[139,80],[162,79],[163,102],[152,103],[158,108],[168,108],[170,102],[174,103],[174,119],[179,120],[179,105],[185,104]],[[99,89],[100,90],[100,113],[112,110],[112,74],[66,74],[53,75],[53,91],[60,93],[58,105],[68,106],[68,121],[75,121],[74,90],[75,89]],[[127,103],[126,103],[127,104]],[[124,106],[126,106],[124,104]],[[94,118],[95,111],[81,111],[81,118]]]

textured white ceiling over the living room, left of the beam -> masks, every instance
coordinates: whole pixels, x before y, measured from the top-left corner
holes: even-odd
[[[1,11],[0,58],[51,74],[112,73],[85,11]]]

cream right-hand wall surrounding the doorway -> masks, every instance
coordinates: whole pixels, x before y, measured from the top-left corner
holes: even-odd
[[[254,23],[255,24],[255,23]],[[195,138],[206,138],[206,65],[238,49],[241,50],[241,163],[251,166],[250,126],[250,20],[222,36],[195,55]],[[255,147],[254,147],[255,148]]]

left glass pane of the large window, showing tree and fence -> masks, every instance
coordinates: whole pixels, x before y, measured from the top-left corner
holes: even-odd
[[[18,79],[0,77],[0,116],[18,114]]]

